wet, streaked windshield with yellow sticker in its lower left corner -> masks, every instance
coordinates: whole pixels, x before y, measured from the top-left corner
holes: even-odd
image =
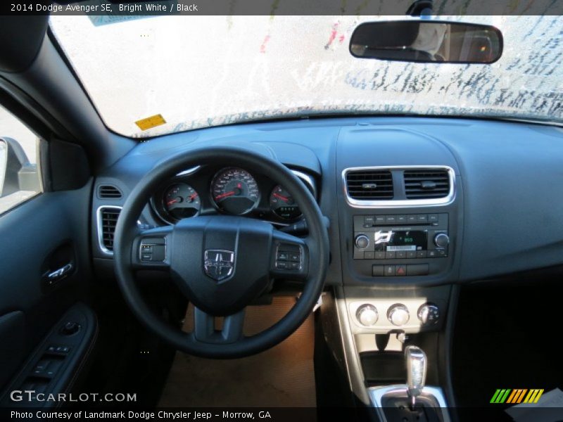
[[[51,28],[104,122],[126,136],[328,113],[562,122],[562,17],[438,18],[495,25],[504,35],[502,57],[491,65],[455,65],[350,55],[358,24],[390,16],[113,23],[52,16]]]

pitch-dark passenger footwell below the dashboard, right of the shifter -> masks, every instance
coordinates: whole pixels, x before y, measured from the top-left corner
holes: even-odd
[[[563,389],[560,283],[536,276],[462,289],[453,341],[456,404],[466,408],[460,416],[486,407],[495,420],[511,421],[504,411],[511,404],[489,403],[497,388]]]

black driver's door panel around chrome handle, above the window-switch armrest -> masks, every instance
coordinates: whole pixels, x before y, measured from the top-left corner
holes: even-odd
[[[65,311],[87,299],[90,194],[91,181],[0,216],[0,390]],[[71,271],[49,284],[65,262]]]

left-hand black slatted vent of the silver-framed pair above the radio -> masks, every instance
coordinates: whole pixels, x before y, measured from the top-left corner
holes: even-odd
[[[346,188],[348,196],[356,200],[393,199],[393,176],[388,170],[350,170]]]

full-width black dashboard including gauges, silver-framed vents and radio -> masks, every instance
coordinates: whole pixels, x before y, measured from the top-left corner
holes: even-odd
[[[160,160],[217,144],[277,160],[308,186],[329,222],[329,285],[439,286],[563,264],[561,129],[339,117],[213,127],[137,144],[96,177],[96,267],[113,274],[112,230],[143,175]],[[112,186],[117,193],[103,195]],[[165,181],[139,223],[163,226],[212,213],[279,229],[303,222],[278,181],[217,157]]]

